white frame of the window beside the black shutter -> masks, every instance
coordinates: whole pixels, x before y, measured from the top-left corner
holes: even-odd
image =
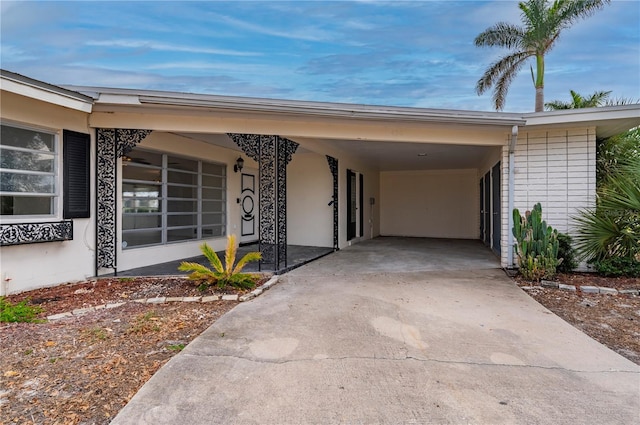
[[[16,121],[10,120],[0,120],[0,124],[7,127],[19,128],[22,130],[34,131],[39,133],[46,133],[53,136],[53,147],[54,147],[54,160],[53,160],[53,185],[54,190],[52,194],[47,193],[46,196],[51,196],[51,214],[23,214],[23,215],[0,215],[0,221],[4,224],[10,223],[37,223],[48,220],[59,220],[62,217],[62,138],[60,137],[61,130],[53,129],[49,127],[43,127],[33,124],[25,124]],[[10,147],[4,146],[4,149],[11,149]],[[22,150],[22,149],[17,149]],[[22,150],[24,151],[24,150]],[[12,169],[3,168],[2,171],[12,172]],[[0,192],[2,195],[11,195],[11,194],[20,194],[24,195],[22,192]],[[33,195],[36,196],[36,195]]]

